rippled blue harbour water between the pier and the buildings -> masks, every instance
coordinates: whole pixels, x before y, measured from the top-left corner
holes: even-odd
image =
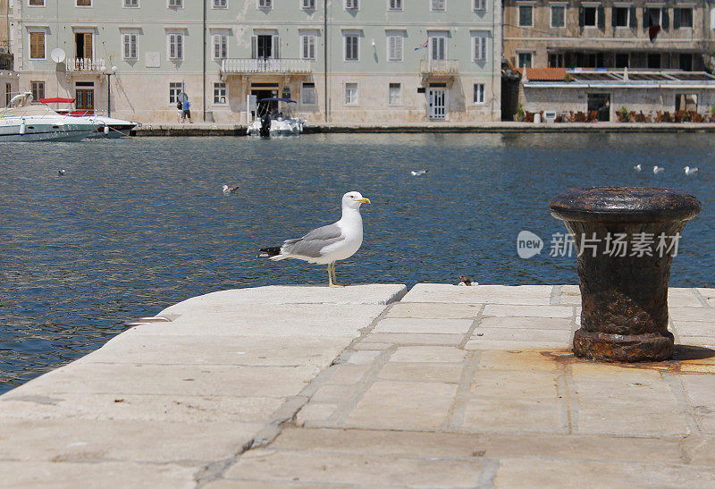
[[[340,216],[359,190],[365,242],[341,282],[576,283],[549,257],[563,232],[548,202],[575,186],[687,190],[671,285],[715,286],[711,135],[308,135],[300,139],[123,139],[0,147],[0,392],[153,315],[210,291],[324,284],[324,266],[257,249]],[[634,164],[646,170],[635,173]],[[653,175],[653,164],[666,171]],[[682,166],[699,166],[686,177]],[[66,174],[59,176],[62,168]],[[422,177],[411,170],[428,169]],[[240,185],[226,197],[224,183]],[[516,236],[547,240],[520,259]]]

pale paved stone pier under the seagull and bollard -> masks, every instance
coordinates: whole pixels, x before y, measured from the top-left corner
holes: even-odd
[[[189,299],[0,396],[3,487],[715,485],[715,290],[676,358],[570,351],[574,285]]]

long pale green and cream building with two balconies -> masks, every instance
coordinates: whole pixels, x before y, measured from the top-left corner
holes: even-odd
[[[181,92],[199,121],[247,122],[250,95],[313,122],[501,118],[499,0],[16,0],[13,15],[22,87],[122,118],[176,121]]]

